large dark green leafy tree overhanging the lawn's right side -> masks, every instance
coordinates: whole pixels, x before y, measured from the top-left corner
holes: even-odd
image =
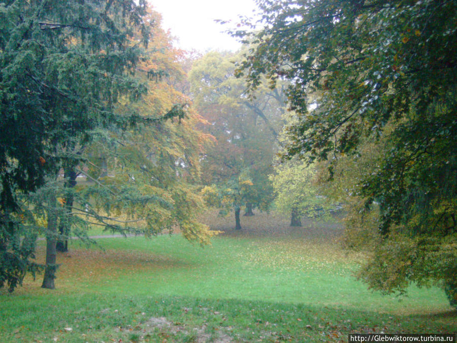
[[[365,159],[380,148],[352,195],[377,218],[370,287],[446,284],[457,271],[457,4],[453,1],[258,1],[265,27],[235,33],[256,45],[239,65],[255,89],[261,76],[291,81],[284,159]],[[307,95],[318,95],[309,110]],[[374,142],[374,143],[372,143]],[[377,213],[377,215],[376,215]]]

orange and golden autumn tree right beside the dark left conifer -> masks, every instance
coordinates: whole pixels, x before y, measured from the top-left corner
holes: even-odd
[[[151,12],[146,19],[157,25],[152,27],[152,47],[146,51],[139,67],[148,70],[154,78],[146,80],[143,76],[149,91],[141,101],[130,106],[143,116],[169,117],[170,120],[154,120],[152,124],[143,124],[143,130],[132,130],[127,139],[129,143],[121,150],[134,153],[117,155],[119,173],[115,174],[122,174],[120,167],[123,173],[132,175],[139,186],[149,188],[145,193],[170,199],[169,208],[159,203],[147,209],[148,215],[155,215],[149,226],[153,230],[149,229],[147,234],[179,229],[185,238],[208,244],[215,232],[199,221],[204,202],[197,189],[200,155],[207,137],[196,129],[201,116],[189,107],[190,99],[177,89],[186,76],[180,63],[184,52],[172,47],[170,35],[158,25],[161,20],[158,13]],[[153,188],[157,189],[156,193]]]

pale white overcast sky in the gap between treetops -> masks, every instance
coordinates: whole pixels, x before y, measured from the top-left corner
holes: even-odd
[[[241,45],[222,31],[238,22],[238,15],[252,16],[254,0],[149,0],[162,14],[164,29],[177,38],[175,45],[185,50],[232,50]],[[214,19],[232,20],[233,25],[221,25]]]

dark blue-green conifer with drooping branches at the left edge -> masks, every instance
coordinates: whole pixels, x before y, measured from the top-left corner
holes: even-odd
[[[147,42],[144,10],[143,1],[2,4],[0,248],[2,266],[9,266],[5,273],[2,268],[2,286],[14,288],[35,268],[28,261],[33,246],[23,246],[18,236],[27,235],[14,215],[18,192],[35,191],[57,173],[59,145],[135,118],[115,115],[114,104],[120,93],[136,98],[145,89],[126,73],[135,70],[139,46],[125,46],[132,26],[142,27]],[[117,22],[113,13],[122,14]]]

